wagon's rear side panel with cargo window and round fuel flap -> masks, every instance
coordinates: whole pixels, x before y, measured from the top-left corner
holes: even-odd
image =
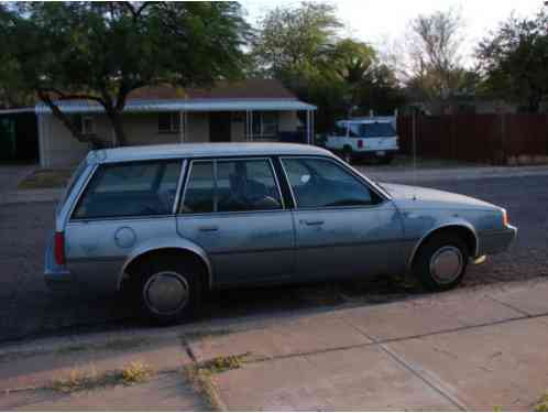
[[[176,236],[180,160],[101,164],[65,228],[67,267],[78,282],[112,291],[125,258],[142,240]]]

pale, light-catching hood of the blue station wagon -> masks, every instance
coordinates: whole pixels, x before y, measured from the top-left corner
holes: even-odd
[[[472,198],[460,194],[454,194],[446,191],[424,188],[420,186],[399,185],[399,184],[381,184],[382,187],[398,203],[403,202],[417,203],[420,206],[450,206],[451,208],[481,208],[492,209],[497,208],[495,205],[485,203],[480,199]]]

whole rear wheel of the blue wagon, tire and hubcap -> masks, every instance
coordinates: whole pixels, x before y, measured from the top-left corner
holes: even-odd
[[[190,319],[201,301],[202,268],[172,254],[149,258],[139,265],[136,301],[143,317],[155,325]]]

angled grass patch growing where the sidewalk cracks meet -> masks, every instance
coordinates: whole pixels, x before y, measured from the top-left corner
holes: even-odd
[[[241,368],[248,356],[249,354],[216,357],[201,363],[186,366],[183,373],[193,388],[206,401],[211,411],[224,411],[227,409],[217,393],[211,377],[228,370]]]

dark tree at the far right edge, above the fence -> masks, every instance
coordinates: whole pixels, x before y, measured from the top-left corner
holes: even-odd
[[[512,15],[478,47],[486,93],[526,102],[537,112],[548,94],[548,17]]]

